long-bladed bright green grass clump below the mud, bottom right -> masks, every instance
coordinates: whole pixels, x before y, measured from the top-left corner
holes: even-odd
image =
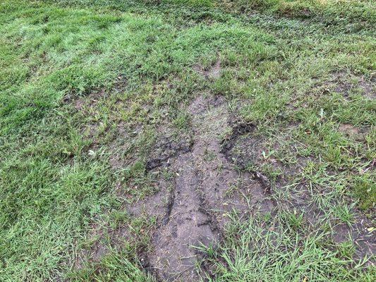
[[[328,234],[286,232],[291,218],[278,218],[278,224],[233,218],[224,244],[208,259],[215,277],[210,281],[372,281],[372,271],[348,269],[349,245],[341,247],[345,259],[339,259],[324,247]]]

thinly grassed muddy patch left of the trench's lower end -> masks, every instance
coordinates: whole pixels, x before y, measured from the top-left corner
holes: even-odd
[[[128,245],[133,245],[136,250],[135,255],[148,270],[150,263],[146,254],[150,252],[150,246],[145,243],[150,240],[150,234],[154,229],[164,220],[166,206],[169,203],[169,189],[171,189],[169,184],[168,180],[159,178],[155,183],[157,189],[151,196],[142,197],[134,202],[124,200],[123,207],[119,209],[124,217],[121,222],[114,224],[116,217],[111,214],[111,210],[108,210],[101,219],[92,223],[85,246],[75,256],[74,269],[83,269],[88,264],[100,262],[104,256],[113,250],[119,250],[126,242]],[[122,185],[119,183],[118,186],[116,192],[121,197]]]

